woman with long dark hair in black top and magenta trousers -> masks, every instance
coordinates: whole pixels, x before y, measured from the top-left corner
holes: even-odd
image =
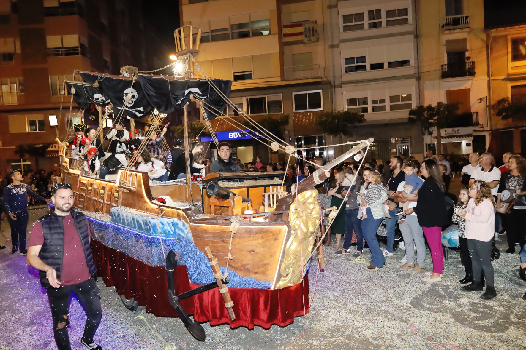
[[[444,269],[444,252],[442,250],[442,226],[448,224],[446,210],[446,185],[442,181],[442,174],[437,162],[427,160],[422,163],[421,173],[426,177],[422,187],[418,190],[417,206],[405,211],[406,215],[417,214],[418,224],[422,227],[424,235],[431,250],[433,272],[422,278],[425,282],[442,281]]]

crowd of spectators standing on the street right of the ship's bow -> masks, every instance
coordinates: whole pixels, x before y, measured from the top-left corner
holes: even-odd
[[[322,158],[317,159],[323,165]],[[519,246],[521,277],[526,271],[526,231],[521,225],[522,210],[526,209],[526,161],[519,154],[505,153],[498,167],[487,152],[453,159],[428,151],[422,163],[399,155],[388,162],[366,161],[360,168],[359,162],[349,159],[332,168],[331,177],[319,188],[318,199],[323,208],[343,204],[332,220],[325,244],[330,245],[331,234],[335,234],[335,253],[350,254],[353,259],[362,259],[364,249],[369,249],[367,268],[378,269],[393,255],[399,229],[403,237],[400,247],[406,253],[400,270],[423,273],[422,281],[440,282],[444,270],[442,232],[456,228],[466,270],[459,281],[461,290],[477,292],[485,287],[481,298],[494,298],[497,291],[491,261],[500,255],[494,243],[500,240],[499,235],[507,237],[507,253],[515,253]],[[297,168],[287,169],[291,179],[300,176],[297,172]],[[455,173],[461,175],[459,193],[449,191]],[[327,226],[330,220],[325,217],[322,222]],[[381,223],[387,230],[383,250],[377,234]],[[351,246],[356,251],[351,251]],[[431,270],[426,270],[427,248]]]

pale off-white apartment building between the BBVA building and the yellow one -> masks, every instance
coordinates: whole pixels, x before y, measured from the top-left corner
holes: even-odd
[[[375,137],[371,158],[422,154],[408,122],[420,104],[416,9],[411,0],[328,2],[334,110],[363,113],[350,140]]]

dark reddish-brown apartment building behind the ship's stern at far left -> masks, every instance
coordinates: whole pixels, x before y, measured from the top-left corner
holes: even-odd
[[[3,1],[0,8],[0,168],[50,169],[57,150],[46,157],[24,157],[19,145],[52,144],[78,123],[64,80],[80,80],[73,71],[119,74],[124,65],[159,68],[168,50],[148,29],[139,1]],[[130,5],[132,5],[130,7]],[[148,46],[148,48],[147,48]],[[161,58],[159,58],[161,57]],[[163,59],[161,63],[161,59]],[[84,122],[98,125],[98,112],[85,111]]]

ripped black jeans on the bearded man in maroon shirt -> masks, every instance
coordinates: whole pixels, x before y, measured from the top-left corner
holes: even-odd
[[[102,317],[100,292],[95,280],[92,278],[82,283],[64,285],[60,288],[47,288],[47,298],[49,299],[49,306],[53,315],[53,333],[58,350],[71,350],[66,326],[69,324],[69,302],[71,301],[72,292],[77,295],[78,300],[86,311],[87,320],[84,326],[84,339],[90,342],[93,341]]]

